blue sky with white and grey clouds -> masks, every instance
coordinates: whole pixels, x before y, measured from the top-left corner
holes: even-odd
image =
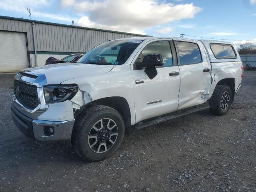
[[[152,36],[256,43],[256,0],[1,0],[0,15]],[[198,36],[198,37],[193,37]]]

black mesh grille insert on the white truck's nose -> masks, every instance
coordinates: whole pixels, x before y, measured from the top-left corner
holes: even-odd
[[[25,107],[34,109],[38,106],[38,95],[35,85],[14,80],[13,93],[16,99]]]

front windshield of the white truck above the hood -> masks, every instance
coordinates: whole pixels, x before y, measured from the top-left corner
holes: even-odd
[[[122,65],[142,40],[116,40],[100,44],[77,62],[98,65]]]

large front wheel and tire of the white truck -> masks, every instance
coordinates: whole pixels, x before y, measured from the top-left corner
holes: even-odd
[[[76,153],[87,162],[108,158],[119,148],[123,138],[122,116],[102,105],[92,106],[78,116],[72,136]]]

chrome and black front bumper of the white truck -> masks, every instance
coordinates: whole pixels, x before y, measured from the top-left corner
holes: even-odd
[[[58,141],[71,138],[75,120],[45,121],[31,119],[19,112],[12,104],[12,119],[19,130],[37,141]],[[53,133],[48,132],[52,128]]]

